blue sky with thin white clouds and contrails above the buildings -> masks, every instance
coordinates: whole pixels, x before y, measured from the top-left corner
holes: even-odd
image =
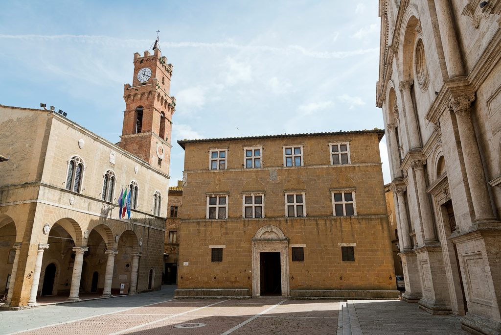
[[[5,2],[0,104],[54,105],[117,142],[133,54],[160,30],[174,65],[175,185],[177,139],[384,128],[379,24],[373,0]]]

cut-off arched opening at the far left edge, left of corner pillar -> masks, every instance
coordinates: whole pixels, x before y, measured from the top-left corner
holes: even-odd
[[[8,215],[0,215],[0,295],[7,293],[11,284],[14,282],[16,253],[19,253],[15,246],[18,229],[14,220]],[[21,240],[21,239],[19,239]],[[19,244],[19,247],[21,245]]]

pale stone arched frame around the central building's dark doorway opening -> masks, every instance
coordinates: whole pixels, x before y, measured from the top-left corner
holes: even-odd
[[[261,295],[261,253],[280,252],[282,296],[289,296],[289,239],[276,226],[260,228],[252,238],[252,288],[253,296]]]

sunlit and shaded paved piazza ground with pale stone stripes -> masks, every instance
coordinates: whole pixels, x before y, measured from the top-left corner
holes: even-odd
[[[0,312],[0,334],[466,334],[396,300],[174,300],[160,292]]]

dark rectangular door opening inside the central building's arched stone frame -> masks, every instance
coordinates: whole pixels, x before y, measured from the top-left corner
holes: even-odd
[[[280,252],[260,252],[261,295],[282,295]]]

